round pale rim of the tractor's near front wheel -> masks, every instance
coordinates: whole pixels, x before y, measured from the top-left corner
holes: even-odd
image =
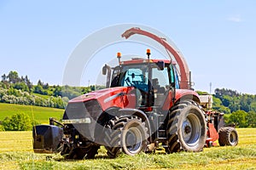
[[[125,147],[131,154],[137,154],[142,148],[143,135],[137,127],[131,127],[125,133]]]

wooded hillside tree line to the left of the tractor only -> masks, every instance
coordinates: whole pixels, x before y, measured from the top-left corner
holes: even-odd
[[[50,86],[48,82],[42,82],[41,80],[33,85],[27,76],[20,77],[17,71],[9,71],[9,74],[3,74],[0,82],[0,102],[63,109],[69,99],[89,93],[95,88],[103,87]]]

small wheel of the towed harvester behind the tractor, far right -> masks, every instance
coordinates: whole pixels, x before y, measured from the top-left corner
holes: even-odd
[[[238,144],[238,134],[234,127],[221,127],[218,131],[218,144],[220,146]]]

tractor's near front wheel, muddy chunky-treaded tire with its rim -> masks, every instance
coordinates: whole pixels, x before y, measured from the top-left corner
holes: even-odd
[[[148,128],[145,122],[137,116],[115,117],[108,122],[108,131],[104,139],[107,154],[114,158],[123,151],[134,156],[146,150],[148,143]]]

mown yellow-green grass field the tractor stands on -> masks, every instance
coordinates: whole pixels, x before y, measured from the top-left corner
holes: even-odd
[[[58,154],[32,152],[32,132],[0,133],[2,169],[256,169],[256,128],[239,128],[236,147],[205,148],[199,153],[121,155],[108,159],[101,148],[95,160],[67,161]]]

